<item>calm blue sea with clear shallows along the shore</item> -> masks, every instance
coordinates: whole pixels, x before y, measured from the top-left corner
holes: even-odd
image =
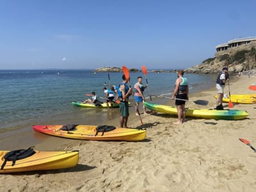
[[[142,72],[130,72],[133,87]],[[166,95],[173,92],[175,72],[147,72],[148,88],[145,96]],[[184,74],[189,80],[189,92],[199,92],[215,84],[214,74]],[[117,109],[77,108],[72,101],[88,99],[86,93],[96,92],[104,97],[104,84],[122,83],[122,72],[94,72],[93,70],[0,70],[0,145],[6,138],[33,132],[35,124],[107,124],[119,118]],[[154,97],[153,102],[154,102]],[[163,100],[163,99],[162,99]],[[134,99],[130,99],[132,110]],[[149,101],[149,100],[148,100]],[[156,100],[155,102],[161,102]],[[131,119],[130,119],[131,120]],[[30,134],[29,137],[33,137]],[[36,141],[36,138],[33,138]],[[12,140],[8,140],[10,142]],[[19,141],[17,141],[19,142]]]

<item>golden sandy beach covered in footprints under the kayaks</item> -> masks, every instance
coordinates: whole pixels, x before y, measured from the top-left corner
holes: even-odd
[[[256,76],[234,77],[230,93],[256,93],[248,89],[253,83]],[[209,100],[209,104],[187,102],[186,108],[213,109],[214,95],[215,88],[189,95],[191,100]],[[168,99],[166,104],[174,106]],[[227,104],[224,107],[228,109]],[[147,139],[140,142],[45,136],[36,150],[79,150],[79,164],[65,170],[2,174],[0,190],[256,191],[256,154],[239,141],[245,138],[256,147],[256,104],[234,104],[232,109],[246,110],[249,116],[244,120],[188,118],[184,124],[175,125],[177,116],[157,113],[141,115],[141,125],[140,118],[132,113],[129,127],[147,129]],[[119,125],[118,118],[109,124]]]

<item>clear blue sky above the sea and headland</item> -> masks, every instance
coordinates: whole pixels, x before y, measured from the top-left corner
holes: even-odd
[[[0,69],[188,68],[256,36],[255,0],[0,0]]]

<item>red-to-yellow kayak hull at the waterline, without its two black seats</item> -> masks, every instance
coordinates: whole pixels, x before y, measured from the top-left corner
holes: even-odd
[[[116,127],[113,131],[99,132],[97,136],[95,125],[76,125],[74,131],[63,131],[63,125],[33,125],[33,129],[37,132],[58,136],[61,138],[69,138],[75,140],[97,140],[97,141],[140,141],[146,137],[145,130],[128,129]]]

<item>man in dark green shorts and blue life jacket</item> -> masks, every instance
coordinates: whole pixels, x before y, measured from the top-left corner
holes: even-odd
[[[120,127],[127,127],[129,117],[129,96],[132,94],[132,88],[127,85],[129,79],[122,76],[123,82],[119,84],[118,98],[120,100]]]

